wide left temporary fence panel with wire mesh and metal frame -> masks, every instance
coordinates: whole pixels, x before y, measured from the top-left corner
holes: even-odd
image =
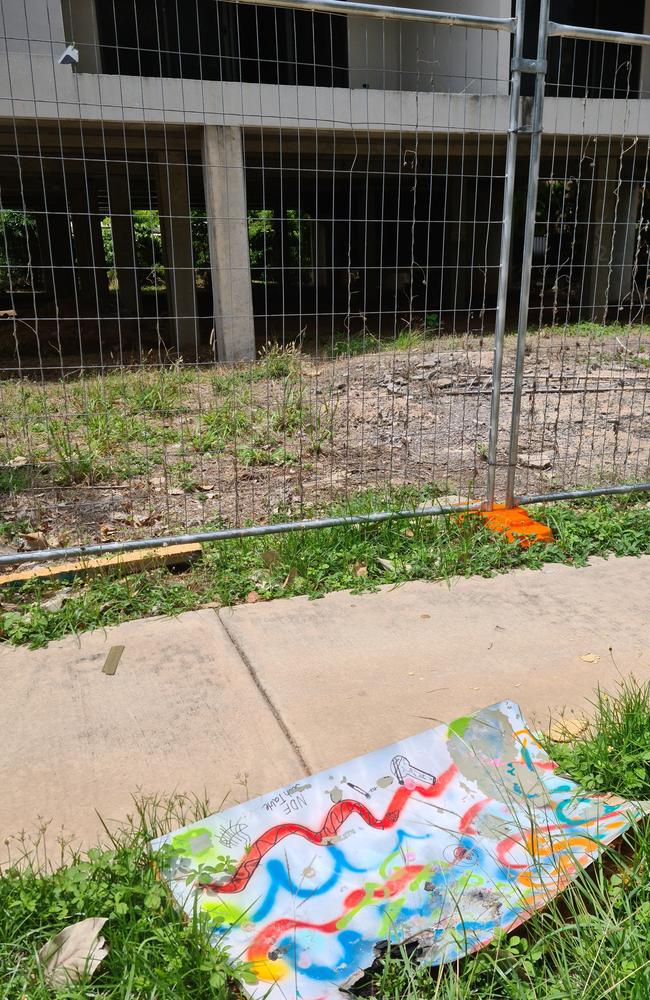
[[[287,7],[5,9],[2,517],[39,547],[485,494],[515,23]]]

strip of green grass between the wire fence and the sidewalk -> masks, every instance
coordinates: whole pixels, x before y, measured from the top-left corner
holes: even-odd
[[[434,497],[430,490],[408,487],[390,496],[370,490],[327,513],[411,509]],[[522,549],[472,516],[413,518],[217,542],[204,546],[203,559],[182,575],[159,569],[79,582],[59,610],[48,610],[43,601],[61,585],[30,584],[5,594],[18,610],[0,612],[0,636],[35,648],[132,618],[173,615],[214,602],[236,604],[251,592],[263,600],[317,598],[384,583],[490,576],[548,562],[582,566],[596,555],[650,553],[650,507],[643,494],[549,504],[531,512],[553,528],[552,544]],[[324,512],[305,511],[310,513]]]

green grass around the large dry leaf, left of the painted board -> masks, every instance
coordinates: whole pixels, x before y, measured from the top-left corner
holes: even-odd
[[[170,904],[152,864],[149,841],[170,827],[204,816],[206,803],[176,796],[142,804],[114,833],[108,849],[57,863],[41,844],[13,845],[14,863],[0,873],[0,995],[51,1000],[35,959],[67,924],[108,917],[109,952],[92,983],[57,992],[60,1000],[203,1000],[233,997],[245,969],[233,970],[208,943],[200,915],[185,921]],[[54,861],[54,863],[53,863]]]

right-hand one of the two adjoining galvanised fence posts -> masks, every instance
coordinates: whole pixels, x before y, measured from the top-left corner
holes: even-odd
[[[510,444],[508,447],[508,477],[506,480],[506,507],[515,505],[515,473],[519,448],[519,420],[521,416],[521,394],[523,386],[524,357],[526,350],[526,330],[528,327],[528,304],[533,263],[533,241],[535,237],[535,214],[537,210],[537,189],[539,185],[539,164],[542,152],[542,118],[544,113],[544,89],[546,86],[546,45],[548,41],[550,0],[541,0],[539,11],[539,31],[537,35],[537,59],[528,62],[527,72],[535,74],[535,91],[530,129],[530,162],[528,167],[528,196],[524,228],[524,249],[521,265],[521,290],[519,294],[519,318],[517,322],[517,355],[515,378],[512,390],[512,418],[510,422]]]

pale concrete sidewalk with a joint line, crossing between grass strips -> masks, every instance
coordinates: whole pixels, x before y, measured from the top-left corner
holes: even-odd
[[[2,647],[0,671],[0,838],[41,817],[89,843],[133,795],[217,808],[501,698],[583,714],[650,679],[650,557],[128,622]]]

